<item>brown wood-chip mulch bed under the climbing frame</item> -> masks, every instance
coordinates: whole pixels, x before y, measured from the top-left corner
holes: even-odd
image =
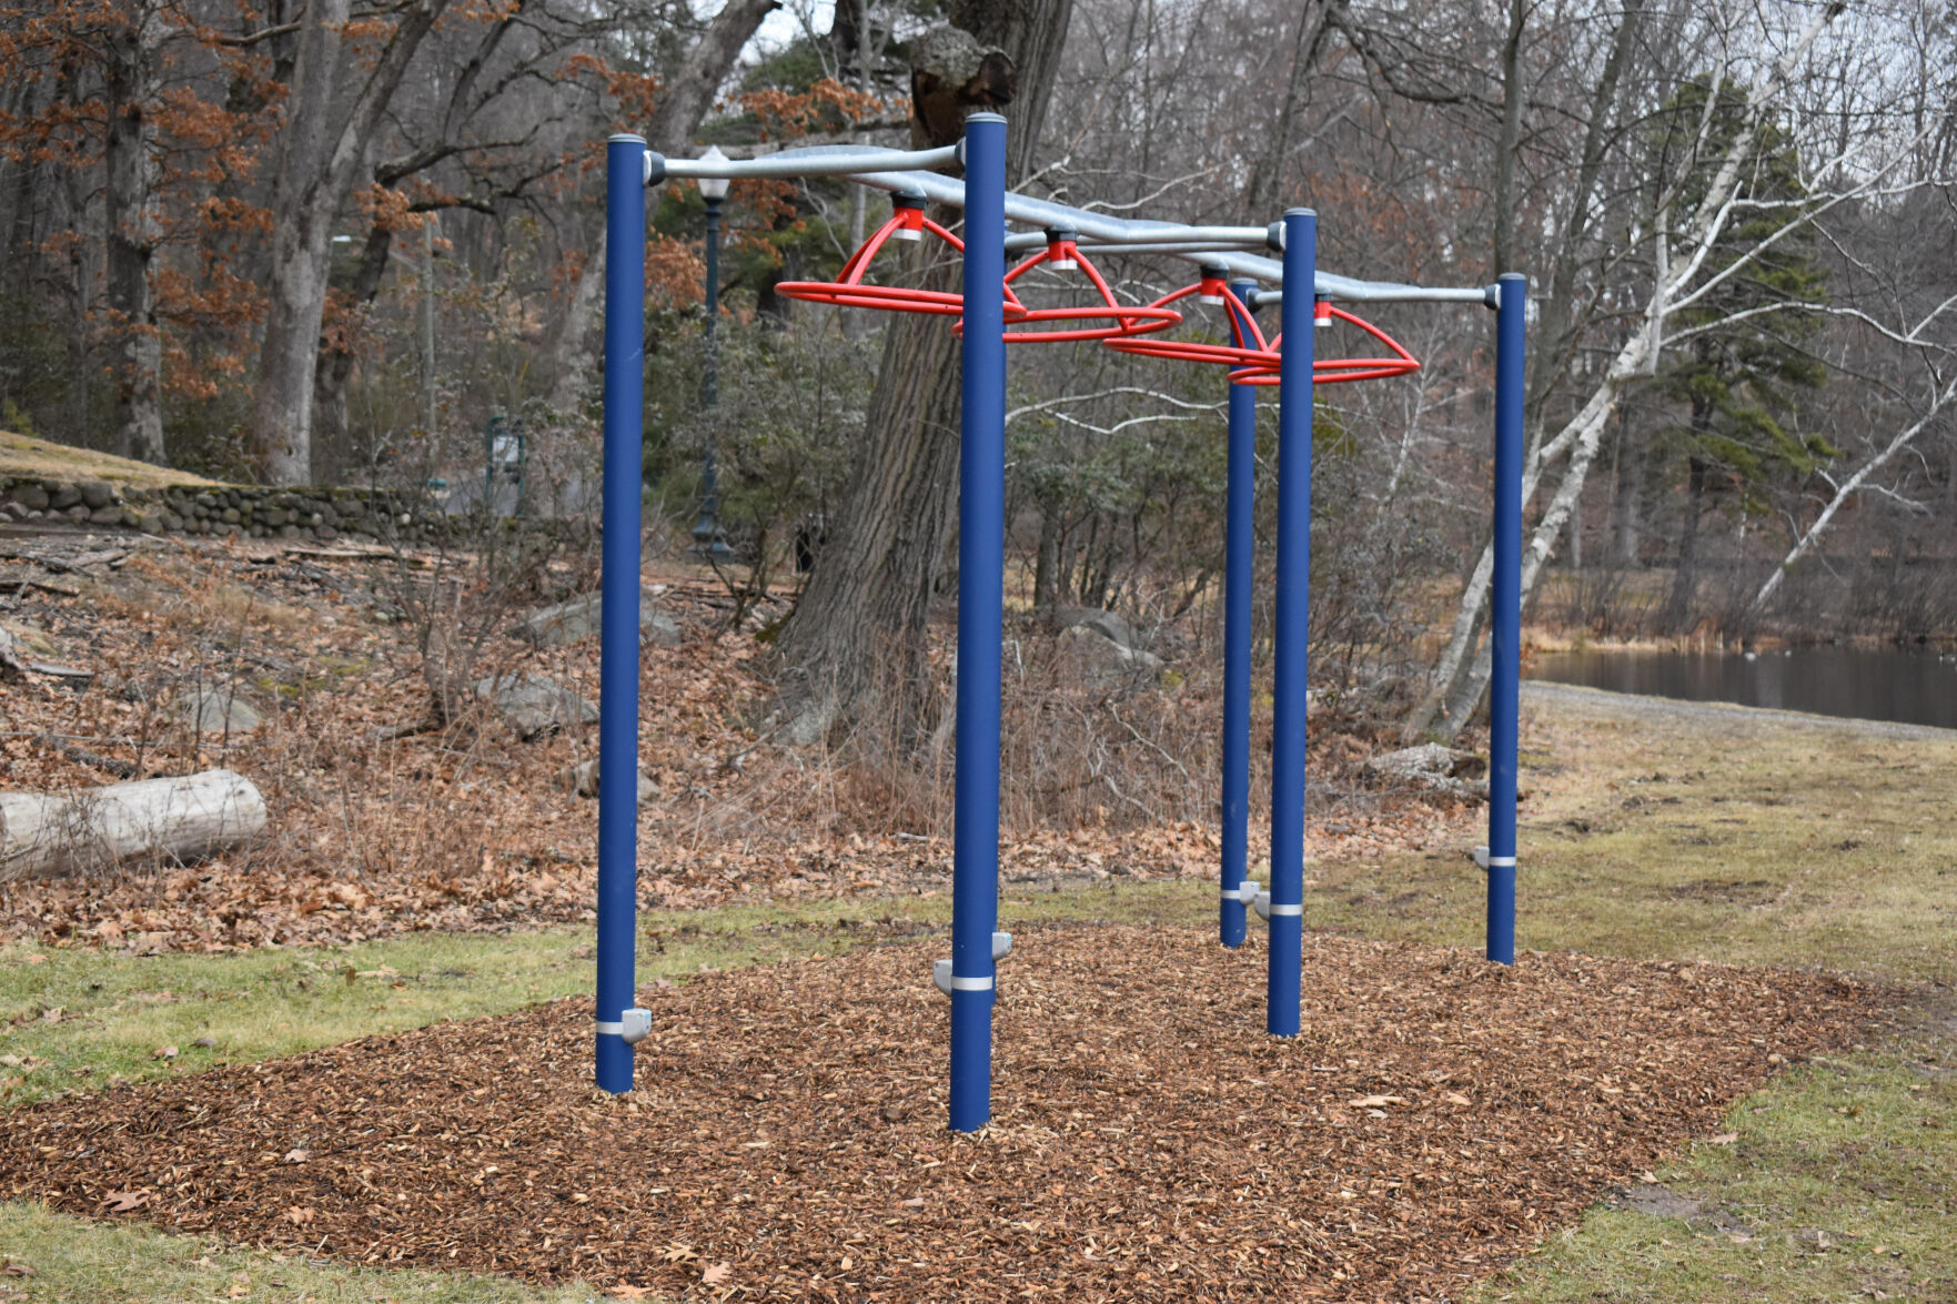
[[[943,1126],[943,944],[652,993],[640,1089],[589,1004],[8,1114],[0,1190],[368,1263],[616,1294],[1442,1300],[1718,1130],[1879,993],[1812,973],[1057,926],[1002,965],[994,1126]]]

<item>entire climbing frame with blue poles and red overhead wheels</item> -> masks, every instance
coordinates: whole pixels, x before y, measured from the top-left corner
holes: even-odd
[[[933,168],[963,164],[963,180]],[[1006,190],[1006,119],[973,114],[965,139],[933,151],[832,145],[761,159],[661,159],[638,135],[607,147],[605,270],[605,540],[599,722],[599,889],[597,889],[597,1085],[632,1087],[632,1044],[652,1030],[634,1004],[636,932],[636,773],[638,773],[638,593],[640,458],[644,437],[644,245],[646,188],[665,178],[838,176],[898,196],[896,211],[851,255],[838,282],[793,282],[793,298],[843,307],[924,311],[959,319],[959,630],[951,957],[933,981],[951,1001],[949,1124],[975,1132],[990,1120],[992,1002],[996,967],[1012,950],[998,932],[998,756],[1000,642],[1006,503],[1006,343],[1008,327],[1027,339],[1100,339],[1145,356],[1219,362],[1231,368],[1231,470],[1225,576],[1225,850],[1219,901],[1221,940],[1243,940],[1245,907],[1270,920],[1266,1030],[1294,1036],[1299,1026],[1303,961],[1305,832],[1305,654],[1311,576],[1311,415],[1313,386],[1405,374],[1415,358],[1384,331],[1337,303],[1481,303],[1495,311],[1495,486],[1493,615],[1489,652],[1489,840],[1487,957],[1515,963],[1515,777],[1523,558],[1523,349],[1528,284],[1507,272],[1485,288],[1403,286],[1354,280],[1317,268],[1317,215],[1290,210],[1268,227],[1192,227],[1110,217]],[[963,241],[924,215],[926,204],[965,211]],[[910,213],[916,213],[914,217]],[[1010,231],[1008,223],[1029,227]],[[924,292],[863,284],[888,239],[935,235],[963,255],[961,290]],[[1033,255],[1008,272],[1008,255]],[[1102,296],[1076,309],[1029,309],[1012,282],[1033,266],[1092,268],[1088,253],[1172,255],[1204,268],[1200,300],[1231,313],[1225,354],[1149,337],[1180,321],[1170,300],[1121,305],[1098,270]],[[1276,253],[1278,258],[1266,256]],[[1072,266],[1067,266],[1067,264]],[[1235,278],[1237,284],[1229,284]],[[1219,294],[1221,292],[1221,294]],[[1280,333],[1264,341],[1252,307],[1276,305]],[[1074,313],[1047,315],[1035,313]],[[1393,356],[1343,358],[1319,366],[1315,327],[1346,321]],[[1039,325],[1051,323],[1051,329]],[[1284,347],[1284,341],[1290,341]],[[1164,349],[1168,347],[1168,349]],[[1249,603],[1251,478],[1254,388],[1278,388],[1278,542],[1274,629],[1272,856],[1270,887],[1243,879],[1249,797]],[[1235,758],[1235,760],[1233,760]]]

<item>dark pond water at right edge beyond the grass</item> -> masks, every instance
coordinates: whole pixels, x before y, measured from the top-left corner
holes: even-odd
[[[1544,652],[1526,675],[1613,693],[1957,728],[1957,652],[1939,648]]]

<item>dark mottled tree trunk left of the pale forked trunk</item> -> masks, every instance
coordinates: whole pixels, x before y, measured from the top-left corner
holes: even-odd
[[[115,450],[164,462],[162,337],[151,258],[157,251],[155,92],[159,16],[137,8],[108,33],[104,80],[108,123],[102,147],[108,219],[108,307],[115,339]]]

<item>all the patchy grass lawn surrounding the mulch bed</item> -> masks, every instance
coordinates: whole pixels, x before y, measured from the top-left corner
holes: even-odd
[[[1957,1298],[1957,740],[1609,699],[1525,732],[1521,944],[1818,967],[1898,985],[1892,1028],[1740,1102],[1697,1145],[1483,1284],[1481,1300]],[[1481,877],[1433,852],[1309,869],[1307,926],[1472,946]],[[1209,885],[1008,893],[1002,918],[1211,918]],[[646,918],[644,983],[943,928],[945,897]],[[0,950],[8,1104],[589,991],[589,932],[125,957]],[[1526,957],[1525,957],[1526,963]],[[924,981],[924,975],[920,975]],[[57,1012],[59,1010],[59,1012]],[[160,1053],[174,1048],[174,1055]],[[98,1228],[0,1204],[8,1300],[571,1300]]]

